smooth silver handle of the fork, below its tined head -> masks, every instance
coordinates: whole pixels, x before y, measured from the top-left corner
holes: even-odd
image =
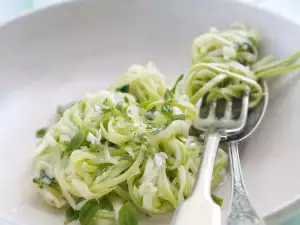
[[[221,209],[212,200],[210,186],[221,135],[206,135],[201,166],[192,194],[176,209],[172,225],[221,225]]]

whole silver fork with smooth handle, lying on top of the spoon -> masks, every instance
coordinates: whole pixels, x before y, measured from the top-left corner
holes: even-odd
[[[206,132],[202,162],[193,192],[176,209],[172,225],[221,225],[221,209],[211,198],[215,158],[221,138],[237,135],[243,131],[248,116],[249,91],[242,98],[238,119],[233,119],[232,101],[226,103],[222,118],[216,116],[216,101],[210,104],[208,116],[201,118],[201,110],[204,110],[203,102],[203,98],[198,101],[199,118],[193,121],[194,128]]]

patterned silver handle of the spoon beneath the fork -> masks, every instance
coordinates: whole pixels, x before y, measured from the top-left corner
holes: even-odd
[[[263,225],[264,222],[253,209],[245,189],[238,152],[238,141],[229,142],[229,157],[231,162],[232,194],[231,211],[227,225]]]

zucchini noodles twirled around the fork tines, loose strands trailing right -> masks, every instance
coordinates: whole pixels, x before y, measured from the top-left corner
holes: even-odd
[[[258,47],[258,34],[241,24],[226,31],[212,28],[194,40],[192,66],[181,93],[187,94],[193,104],[203,97],[209,104],[217,99],[240,99],[250,88],[249,108],[255,108],[264,96],[260,79],[300,67],[295,64],[300,52],[283,60],[267,56],[257,61]]]

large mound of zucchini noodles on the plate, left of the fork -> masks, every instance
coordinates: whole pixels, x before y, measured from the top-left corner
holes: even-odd
[[[134,65],[109,91],[88,95],[48,129],[35,182],[58,208],[105,202],[95,215],[100,220],[118,221],[115,202],[118,210],[130,201],[147,214],[171,211],[191,193],[200,163],[203,144],[189,135],[196,118],[189,98],[167,89],[154,66]],[[226,162],[220,149],[214,187]]]

